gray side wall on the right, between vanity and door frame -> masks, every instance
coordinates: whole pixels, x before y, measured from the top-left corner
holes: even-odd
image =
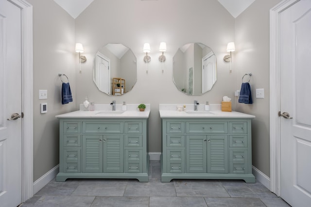
[[[270,176],[269,10],[278,2],[280,0],[256,0],[235,19],[236,51],[232,60],[237,88],[241,88],[245,73],[253,73],[250,81],[253,104],[237,103],[236,100],[236,111],[256,116],[252,121],[253,165],[267,176]],[[246,77],[244,79],[248,80]],[[256,88],[264,89],[264,99],[255,98]]]

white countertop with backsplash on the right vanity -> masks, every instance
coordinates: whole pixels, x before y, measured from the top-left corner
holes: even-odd
[[[193,111],[193,104],[186,104],[186,111],[177,111],[177,105],[183,104],[160,104],[159,112],[161,118],[255,118],[254,115],[237,111],[221,111],[218,104],[210,105],[211,111],[204,111],[204,105]]]

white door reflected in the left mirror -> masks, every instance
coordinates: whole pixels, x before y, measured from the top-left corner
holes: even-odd
[[[96,65],[94,68],[94,82],[98,89],[106,94],[110,94],[110,59],[102,53],[96,53]]]

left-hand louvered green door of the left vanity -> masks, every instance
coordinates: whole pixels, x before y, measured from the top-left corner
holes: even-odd
[[[103,172],[103,135],[82,136],[82,172]]]

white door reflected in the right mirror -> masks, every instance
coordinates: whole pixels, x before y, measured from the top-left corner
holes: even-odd
[[[209,91],[216,82],[216,56],[213,52],[202,58],[202,94]]]

